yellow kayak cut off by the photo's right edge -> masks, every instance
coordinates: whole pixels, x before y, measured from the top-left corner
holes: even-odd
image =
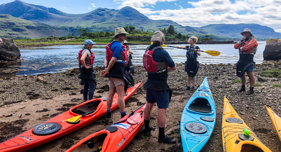
[[[281,118],[270,107],[268,107],[267,105],[265,107],[270,117],[273,128],[281,141]]]

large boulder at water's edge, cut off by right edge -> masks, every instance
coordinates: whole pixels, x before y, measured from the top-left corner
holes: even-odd
[[[281,40],[270,39],[266,41],[266,46],[263,51],[264,60],[279,60],[281,59]]]

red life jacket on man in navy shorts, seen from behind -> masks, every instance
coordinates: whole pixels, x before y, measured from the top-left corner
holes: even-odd
[[[145,53],[143,54],[142,62],[143,62],[143,67],[146,71],[150,73],[161,73],[166,71],[166,68],[168,67],[167,63],[164,62],[155,62],[153,60],[153,52],[154,50],[159,49],[159,51],[162,51],[163,48],[160,46],[154,47],[152,50],[149,50],[149,47],[147,47]]]

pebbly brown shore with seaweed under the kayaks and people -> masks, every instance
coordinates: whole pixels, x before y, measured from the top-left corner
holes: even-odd
[[[223,151],[221,123],[223,112],[223,97],[228,96],[234,109],[244,119],[247,125],[256,133],[261,141],[273,152],[281,151],[281,142],[273,130],[271,121],[267,115],[265,105],[281,116],[281,88],[272,87],[281,84],[281,79],[262,77],[260,73],[265,69],[281,67],[280,61],[266,61],[254,65],[256,77],[255,94],[246,96],[246,93],[236,93],[240,83],[236,83],[236,66],[234,64],[201,64],[196,76],[197,88],[205,77],[216,103],[217,120],[215,129],[202,151]],[[97,74],[97,89],[95,97],[106,96],[108,82],[100,76],[102,67],[95,67]],[[135,67],[135,82],[146,82],[147,73],[141,66]],[[0,142],[5,141],[43,121],[46,121],[70,107],[81,103],[83,96],[79,94],[78,69],[59,73],[46,73],[29,77],[13,77],[0,80]],[[36,81],[37,77],[44,78]],[[258,81],[262,78],[264,81]],[[180,118],[182,110],[194,92],[185,91],[187,74],[184,72],[184,64],[177,64],[177,70],[169,73],[168,84],[173,90],[172,100],[167,112],[166,134],[177,139],[176,144],[163,144],[157,142],[157,106],[154,106],[151,115],[151,126],[156,129],[151,133],[144,133],[143,129],[136,135],[131,143],[123,151],[182,151],[180,138]],[[246,84],[250,89],[249,79]],[[140,88],[137,93],[126,101],[126,111],[145,103],[145,89]],[[65,151],[86,136],[110,126],[119,120],[119,110],[112,112],[112,120],[107,122],[104,118],[62,138],[43,144],[28,151]]]

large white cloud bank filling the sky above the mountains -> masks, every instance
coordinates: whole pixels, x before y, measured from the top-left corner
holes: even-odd
[[[189,1],[191,8],[154,10],[153,5],[177,0],[114,0],[119,8],[130,6],[153,20],[173,20],[183,26],[255,23],[281,32],[281,0],[201,0]],[[179,2],[181,3],[181,1]],[[147,8],[147,7],[151,8]]]

